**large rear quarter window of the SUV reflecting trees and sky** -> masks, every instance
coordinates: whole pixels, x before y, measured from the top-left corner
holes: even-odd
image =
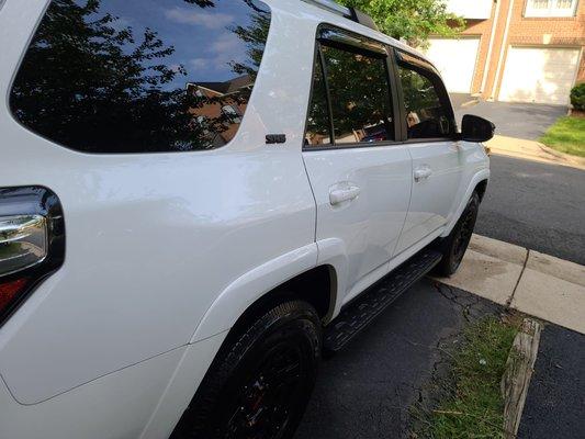
[[[82,151],[220,147],[241,123],[269,25],[256,0],[53,0],[11,108]]]

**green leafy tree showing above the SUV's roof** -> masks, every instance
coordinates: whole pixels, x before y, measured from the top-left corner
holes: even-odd
[[[339,0],[373,19],[380,31],[410,45],[425,45],[429,35],[454,36],[463,20],[447,12],[442,0]]]

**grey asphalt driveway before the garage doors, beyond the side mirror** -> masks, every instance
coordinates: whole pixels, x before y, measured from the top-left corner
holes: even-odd
[[[474,114],[496,125],[496,134],[538,139],[559,117],[566,115],[566,108],[536,103],[509,103],[480,101],[475,105],[461,108],[461,99],[453,100],[459,123],[463,114]]]

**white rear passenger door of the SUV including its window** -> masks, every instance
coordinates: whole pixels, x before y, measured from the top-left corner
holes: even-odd
[[[408,147],[395,142],[385,47],[330,27],[318,35],[303,157],[317,243],[345,248],[347,301],[385,273],[408,209],[412,167]]]

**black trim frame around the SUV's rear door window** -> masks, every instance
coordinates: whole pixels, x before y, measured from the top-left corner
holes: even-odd
[[[386,82],[387,82],[389,91],[390,91],[389,108],[392,109],[392,112],[393,112],[393,114],[392,114],[393,126],[394,126],[394,139],[393,140],[382,140],[382,142],[378,142],[375,144],[372,144],[372,143],[369,143],[369,142],[355,142],[355,143],[347,143],[347,144],[337,144],[337,143],[335,143],[335,128],[334,128],[334,122],[333,122],[334,121],[334,116],[333,116],[333,108],[331,108],[331,97],[330,97],[330,93],[329,93],[329,81],[327,80],[326,65],[325,65],[323,52],[320,50],[320,46],[322,46],[322,44],[324,44],[324,40],[326,40],[326,38],[322,38],[320,37],[320,33],[323,32],[324,29],[325,30],[330,30],[330,31],[334,31],[334,32],[338,32],[340,34],[348,35],[349,37],[355,35],[355,40],[356,41],[359,41],[360,38],[363,38],[365,41],[371,41],[374,44],[379,44],[381,47],[383,47],[384,54],[382,55],[381,52],[371,50],[371,49],[368,49],[368,47],[356,46],[356,44],[342,44],[339,41],[335,41],[335,42],[333,42],[330,44],[325,44],[326,46],[336,47],[336,48],[339,48],[339,49],[342,49],[342,50],[347,50],[347,52],[353,52],[353,53],[361,52],[361,53],[363,53],[367,56],[375,57],[375,58],[379,58],[379,59],[384,59],[385,58]],[[400,137],[400,136],[402,136],[402,127],[400,126],[401,125],[400,123],[396,123],[396,117],[397,117],[397,114],[398,114],[397,112],[400,111],[400,106],[401,105],[400,105],[400,102],[398,102],[398,99],[397,99],[397,95],[396,95],[397,94],[397,88],[396,88],[397,83],[396,83],[396,77],[395,77],[394,67],[392,66],[392,60],[391,60],[391,57],[392,57],[392,52],[390,50],[391,46],[389,46],[386,43],[382,43],[382,42],[380,42],[378,40],[371,38],[371,37],[365,36],[365,35],[361,35],[361,34],[359,34],[357,32],[348,31],[346,29],[336,26],[334,24],[320,23],[317,26],[314,47],[315,47],[315,49],[314,49],[314,54],[313,54],[313,67],[312,67],[312,70],[311,70],[312,71],[311,72],[311,91],[308,93],[307,110],[305,112],[305,127],[304,127],[304,131],[303,131],[303,147],[302,147],[303,153],[305,153],[305,151],[338,150],[338,149],[379,148],[379,147],[383,147],[383,146],[402,145],[403,142],[401,140],[401,137]],[[349,50],[348,50],[348,48],[349,48]],[[327,111],[328,111],[328,116],[329,116],[328,117],[329,119],[329,138],[331,139],[331,143],[329,145],[327,145],[327,146],[305,145],[306,133],[307,133],[307,127],[308,127],[308,113],[311,111],[311,104],[313,102],[313,95],[315,93],[314,78],[315,78],[315,67],[316,67],[316,64],[317,64],[317,59],[318,59],[318,63],[319,63],[319,67],[322,68],[323,79],[325,81],[325,90],[326,90],[326,99],[327,99]]]

